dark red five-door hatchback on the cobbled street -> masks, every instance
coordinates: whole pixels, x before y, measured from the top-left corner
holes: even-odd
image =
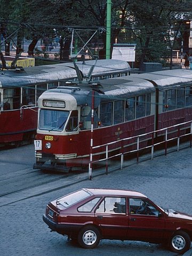
[[[119,239],[165,243],[182,254],[192,239],[192,215],[163,210],[131,190],[80,189],[50,202],[43,220],[83,248],[94,248],[100,239]]]

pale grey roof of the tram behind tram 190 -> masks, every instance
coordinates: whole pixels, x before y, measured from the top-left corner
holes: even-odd
[[[94,60],[77,62],[79,70],[87,76]],[[98,60],[92,75],[118,73],[120,71],[130,71],[130,66],[126,61],[121,60]],[[72,62],[59,63],[54,65],[44,65],[25,68],[24,71],[14,69],[0,71],[0,87],[25,86],[41,83],[51,83],[62,79],[77,77]]]

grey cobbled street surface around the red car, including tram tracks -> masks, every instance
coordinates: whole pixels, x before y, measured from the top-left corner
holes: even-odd
[[[126,162],[105,170],[66,175],[33,170],[33,145],[0,151],[0,252],[2,256],[165,256],[177,255],[162,245],[133,241],[103,240],[92,250],[81,249],[57,233],[51,233],[42,220],[46,204],[83,187],[134,189],[165,208],[192,214],[192,149],[168,151]],[[117,163],[116,163],[117,164]]]

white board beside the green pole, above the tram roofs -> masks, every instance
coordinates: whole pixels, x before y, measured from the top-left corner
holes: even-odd
[[[135,47],[136,44],[114,44],[112,59],[134,62]]]

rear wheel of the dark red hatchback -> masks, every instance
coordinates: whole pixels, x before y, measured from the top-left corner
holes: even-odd
[[[77,237],[78,244],[85,249],[92,249],[96,247],[101,239],[99,230],[92,226],[85,226],[82,228]]]

